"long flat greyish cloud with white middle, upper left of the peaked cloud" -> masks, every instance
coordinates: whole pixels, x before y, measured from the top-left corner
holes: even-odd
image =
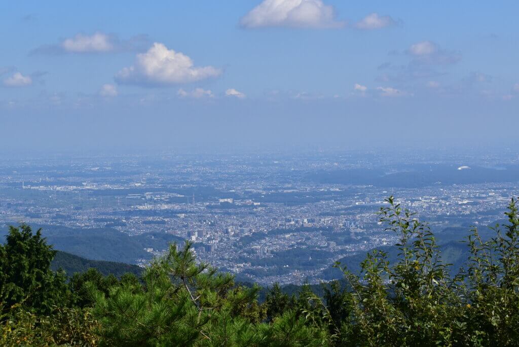
[[[138,35],[128,40],[122,40],[116,35],[102,32],[95,32],[92,35],[79,33],[73,37],[63,39],[58,44],[40,46],[31,51],[31,54],[82,54],[139,51],[147,46],[149,46],[149,39],[146,35]]]

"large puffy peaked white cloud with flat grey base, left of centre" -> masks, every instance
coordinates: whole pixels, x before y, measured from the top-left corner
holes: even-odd
[[[213,66],[194,66],[188,56],[154,43],[146,53],[137,55],[134,65],[119,71],[115,79],[118,83],[167,86],[196,82],[221,73]]]

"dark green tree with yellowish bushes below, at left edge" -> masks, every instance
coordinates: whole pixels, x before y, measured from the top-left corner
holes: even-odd
[[[91,269],[67,284],[61,269],[50,268],[55,255],[41,230],[33,234],[24,224],[9,228],[0,245],[0,345],[97,345],[98,323],[90,309],[82,309],[92,304],[85,283],[106,292],[139,283],[133,274],[118,281]]]

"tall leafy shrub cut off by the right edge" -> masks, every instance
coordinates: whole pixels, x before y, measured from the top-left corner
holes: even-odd
[[[516,345],[519,341],[519,215],[517,202],[508,206],[508,224],[492,229],[496,236],[482,241],[473,229],[468,244],[470,266],[460,277],[467,282],[467,325],[481,344]]]

